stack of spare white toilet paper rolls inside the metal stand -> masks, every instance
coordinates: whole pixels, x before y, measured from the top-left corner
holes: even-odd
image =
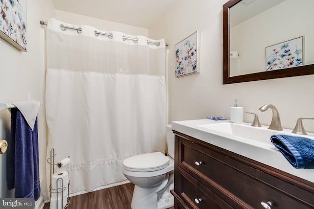
[[[64,208],[67,204],[68,190],[69,190],[69,172],[59,171],[52,174],[51,183],[51,209]],[[62,192],[63,191],[63,192]],[[63,201],[62,201],[63,197]],[[55,208],[52,208],[52,206]],[[62,206],[62,207],[61,207]]]

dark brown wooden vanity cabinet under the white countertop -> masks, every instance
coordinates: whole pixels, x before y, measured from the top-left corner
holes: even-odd
[[[314,183],[174,133],[175,209],[314,208]]]

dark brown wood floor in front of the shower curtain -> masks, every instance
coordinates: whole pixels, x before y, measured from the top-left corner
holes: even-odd
[[[129,183],[70,197],[67,209],[131,209],[133,189]],[[49,207],[46,203],[44,209]]]

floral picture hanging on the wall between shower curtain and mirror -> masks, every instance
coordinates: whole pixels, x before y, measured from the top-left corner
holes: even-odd
[[[199,31],[196,31],[175,45],[175,77],[200,72]]]

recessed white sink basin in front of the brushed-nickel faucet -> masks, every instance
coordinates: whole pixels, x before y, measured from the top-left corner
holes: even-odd
[[[270,137],[276,134],[282,135],[293,135],[293,136],[303,136],[312,138],[309,135],[295,135],[291,131],[275,131],[270,130],[266,126],[254,127],[248,123],[216,123],[216,124],[206,124],[199,125],[200,127],[206,128],[213,132],[219,132],[227,135],[233,135],[235,138],[245,138],[255,141],[260,141],[267,144],[272,144]]]

